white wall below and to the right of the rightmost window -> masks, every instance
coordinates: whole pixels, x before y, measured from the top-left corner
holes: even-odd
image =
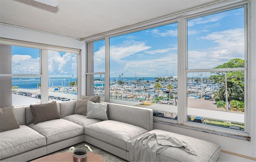
[[[178,134],[183,134],[186,136],[191,136],[194,138],[199,138],[202,140],[206,140],[221,146],[221,150],[226,150],[229,152],[234,152],[236,154],[241,154],[245,156],[250,156],[256,159],[256,0],[252,0],[251,2],[251,12],[252,12],[252,22],[251,22],[251,53],[250,59],[252,60],[252,71],[249,74],[252,78],[249,82],[251,82],[252,87],[248,89],[249,96],[248,96],[248,106],[250,106],[250,136],[251,141],[245,140],[238,140],[235,138],[229,138],[225,136],[210,134],[199,132],[196,130],[189,130],[185,128],[180,128],[176,126],[169,126],[166,124],[160,124],[154,122],[154,129],[166,130]],[[231,154],[221,153],[220,158],[218,161],[253,161],[248,158],[242,158],[239,156],[234,156]]]

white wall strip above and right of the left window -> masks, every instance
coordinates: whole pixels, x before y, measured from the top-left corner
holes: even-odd
[[[14,40],[22,40],[27,42],[36,42],[41,44],[49,44],[54,46],[62,46],[68,48],[81,49],[82,58],[82,95],[85,95],[85,42],[64,36],[57,36],[53,34],[46,34],[44,32],[37,32],[12,26],[5,26],[0,24],[0,37]]]

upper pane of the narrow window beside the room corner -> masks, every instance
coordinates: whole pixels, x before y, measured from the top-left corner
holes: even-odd
[[[87,72],[105,72],[105,40],[89,43],[87,47]]]

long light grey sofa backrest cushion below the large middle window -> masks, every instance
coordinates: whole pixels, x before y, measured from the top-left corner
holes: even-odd
[[[116,120],[153,130],[153,110],[120,104],[108,104],[108,120]]]

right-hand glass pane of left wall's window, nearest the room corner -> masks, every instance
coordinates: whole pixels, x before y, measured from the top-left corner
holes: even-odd
[[[77,54],[48,51],[49,101],[77,99]]]

